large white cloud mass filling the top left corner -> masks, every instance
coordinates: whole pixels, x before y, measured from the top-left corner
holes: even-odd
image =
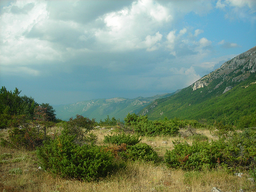
[[[60,50],[54,49],[49,41],[26,38],[26,33],[36,24],[48,19],[46,7],[46,2],[39,1],[17,1],[5,7],[0,22],[2,65],[36,65],[45,61],[61,60]],[[38,74],[23,70],[25,73],[26,71],[29,74]]]

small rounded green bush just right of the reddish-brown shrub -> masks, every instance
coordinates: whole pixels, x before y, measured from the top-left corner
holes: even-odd
[[[158,154],[146,143],[137,143],[135,145],[126,146],[126,148],[127,158],[131,160],[160,161]]]

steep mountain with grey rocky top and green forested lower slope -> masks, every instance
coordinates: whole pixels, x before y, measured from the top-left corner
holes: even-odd
[[[156,99],[140,115],[236,124],[256,116],[256,47],[223,63],[178,93]]]

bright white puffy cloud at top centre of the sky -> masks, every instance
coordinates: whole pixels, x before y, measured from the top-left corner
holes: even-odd
[[[143,0],[133,2],[130,8],[105,14],[102,19],[107,28],[96,31],[97,40],[109,44],[112,50],[122,51],[141,49],[142,39],[155,34],[172,20],[172,15],[157,2]]]

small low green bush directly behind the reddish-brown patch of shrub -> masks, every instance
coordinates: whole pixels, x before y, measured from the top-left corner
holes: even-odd
[[[122,143],[125,143],[127,145],[135,145],[140,141],[141,139],[139,139],[139,136],[126,135],[126,134],[107,135],[107,136],[104,136],[104,140],[103,140],[104,143],[111,143],[111,144],[117,144],[117,145],[121,145]]]

